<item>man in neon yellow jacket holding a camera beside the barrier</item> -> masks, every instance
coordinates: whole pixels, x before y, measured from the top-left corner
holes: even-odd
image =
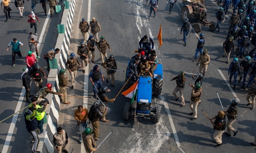
[[[41,105],[41,100],[37,101],[37,97],[32,97],[31,101],[36,102],[36,119],[37,119],[37,127],[40,130],[39,135],[44,135],[47,133],[47,131],[44,131],[43,125],[44,125],[44,115],[45,115],[45,106],[47,105],[46,102],[44,102],[44,105]]]

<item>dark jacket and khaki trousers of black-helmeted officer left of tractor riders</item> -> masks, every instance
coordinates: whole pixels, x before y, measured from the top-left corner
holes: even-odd
[[[110,69],[117,69],[116,60],[107,59],[102,65],[105,69],[108,68],[106,81],[108,83],[108,79],[110,78],[110,75],[111,75],[111,85],[113,86],[115,84],[116,70],[110,70]]]

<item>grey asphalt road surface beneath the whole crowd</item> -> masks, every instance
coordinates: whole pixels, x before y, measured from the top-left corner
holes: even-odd
[[[90,2],[90,1],[89,1]],[[145,2],[145,1],[144,1]],[[29,2],[28,2],[29,3]],[[25,8],[30,10],[30,3],[25,4]],[[207,16],[209,21],[216,22],[215,13],[219,6],[215,1],[207,1]],[[12,6],[12,4],[11,4]],[[152,101],[160,103],[162,106],[161,117],[159,123],[153,124],[151,120],[145,119],[123,119],[123,111],[126,102],[129,98],[123,95],[118,95],[113,104],[109,104],[112,111],[107,115],[109,122],[100,122],[100,140],[97,144],[101,144],[97,152],[255,152],[256,148],[251,146],[249,142],[253,142],[255,136],[255,119],[254,111],[250,110],[250,106],[246,106],[247,101],[245,97],[238,98],[238,115],[237,120],[233,124],[239,132],[233,137],[223,135],[223,145],[214,148],[214,140],[212,139],[213,131],[212,124],[202,113],[204,110],[211,118],[217,115],[218,111],[222,110],[216,91],[220,96],[220,100],[226,110],[230,104],[230,99],[234,97],[244,96],[245,91],[240,89],[242,83],[237,84],[237,88],[233,91],[233,79],[228,87],[226,80],[228,80],[228,66],[226,58],[222,58],[223,50],[222,43],[224,42],[227,32],[228,23],[225,21],[221,24],[220,32],[209,31],[209,27],[202,27],[202,32],[205,35],[205,47],[209,47],[208,54],[210,55],[211,62],[208,65],[208,70],[203,78],[203,94],[201,97],[202,104],[197,107],[197,120],[191,121],[191,110],[188,106],[190,100],[191,87],[189,83],[193,83],[192,75],[186,75],[186,84],[184,88],[184,98],[186,106],[180,108],[180,99],[176,102],[172,91],[176,86],[175,82],[169,80],[178,74],[178,71],[186,71],[199,73],[199,68],[196,63],[192,62],[195,55],[197,44],[196,34],[191,33],[190,38],[187,37],[187,46],[183,46],[182,35],[180,35],[180,27],[182,24],[180,8],[182,4],[179,1],[174,4],[172,14],[169,14],[169,3],[159,0],[156,18],[148,19],[149,6],[142,3],[142,1],[93,1],[91,3],[90,12],[88,15],[88,3],[85,1],[77,1],[76,15],[74,16],[73,29],[71,34],[71,44],[69,47],[69,54],[76,53],[79,42],[82,41],[82,35],[78,29],[78,24],[82,18],[88,19],[95,17],[99,21],[102,31],[99,36],[104,36],[111,46],[111,52],[107,53],[108,56],[113,54],[117,61],[118,69],[125,70],[127,62],[135,55],[134,50],[137,49],[138,42],[145,34],[151,36],[155,43],[157,42],[157,34],[159,26],[162,25],[162,38],[163,45],[157,51],[159,62],[163,63],[164,68],[164,86],[162,94],[159,97],[153,97]],[[14,5],[13,5],[14,8]],[[48,9],[48,8],[47,8]],[[26,10],[26,9],[25,9]],[[35,13],[41,20],[38,25],[38,34],[42,30],[45,17],[42,12],[41,6],[36,6]],[[229,9],[231,11],[231,8]],[[26,11],[24,16],[28,16],[30,11]],[[27,36],[30,29],[26,17],[19,18],[19,13],[13,9],[11,19],[7,23],[4,22],[4,14],[1,13],[0,22],[2,22],[1,40],[0,44],[4,48],[0,53],[0,100],[2,107],[0,108],[1,119],[4,119],[14,113],[17,106],[20,92],[22,90],[22,82],[20,75],[22,68],[25,65],[25,55],[28,50]],[[230,13],[228,16],[230,17]],[[153,16],[153,15],[152,15]],[[58,18],[49,20],[47,31],[42,32],[44,35],[40,51],[47,50],[54,47],[56,41],[56,23],[59,23],[60,15]],[[24,21],[23,21],[24,20]],[[226,20],[228,20],[226,18]],[[12,25],[12,26],[10,26]],[[24,47],[22,48],[23,57],[16,58],[16,65],[12,68],[11,52],[5,51],[8,43],[13,38],[17,38]],[[101,64],[99,52],[96,51],[95,61]],[[235,53],[231,53],[235,55]],[[43,54],[41,54],[42,57]],[[233,56],[232,56],[233,57]],[[241,62],[241,59],[239,59]],[[44,67],[46,62],[39,60],[39,64]],[[92,64],[86,67],[91,70]],[[104,77],[106,70],[101,67]],[[45,68],[44,68],[45,69]],[[92,85],[88,79],[88,71],[84,74],[82,69],[77,71],[75,89],[69,86],[69,94],[76,96],[83,96],[84,90],[88,91],[88,96],[93,96]],[[110,86],[110,83],[103,82],[103,86],[108,86],[111,90],[108,93],[109,98],[114,98],[119,90],[122,88],[125,80],[124,72],[116,72],[116,87]],[[88,89],[84,89],[84,84],[88,83]],[[120,84],[118,84],[120,83]],[[8,85],[7,85],[8,84]],[[31,84],[32,90],[35,89]],[[33,93],[33,92],[32,92]],[[84,104],[89,109],[95,102],[94,98],[89,98],[85,101],[81,98],[68,98],[72,102],[69,105],[61,104],[60,118],[58,125],[63,127],[68,133],[68,145],[66,149],[69,152],[84,152],[83,145],[78,141],[79,130],[76,128],[76,120],[73,117],[74,111],[78,105]],[[22,101],[21,108],[27,106],[25,100]],[[30,135],[27,133],[23,112],[20,112],[16,121],[13,135],[10,141],[9,149],[6,152],[24,152],[23,150],[30,150],[31,141]],[[9,127],[12,125],[12,118],[0,123],[0,150],[3,150],[3,145],[6,140]],[[89,127],[92,127],[90,124]],[[46,129],[47,130],[47,129]],[[112,133],[108,136],[108,134]],[[108,137],[107,137],[108,136]],[[106,138],[107,137],[107,138]],[[106,138],[106,139],[105,139]],[[103,142],[103,140],[105,141]],[[22,143],[25,142],[25,143]],[[103,143],[101,143],[103,142]],[[177,147],[179,146],[180,149]]]

